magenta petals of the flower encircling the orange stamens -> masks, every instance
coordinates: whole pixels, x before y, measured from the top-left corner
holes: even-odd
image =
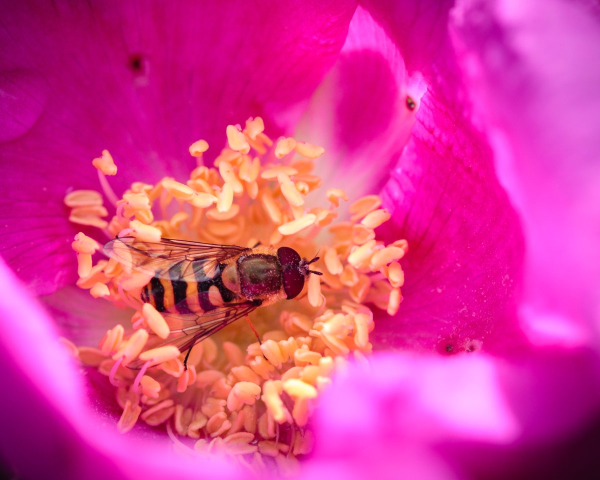
[[[596,7],[545,5],[540,18],[535,2],[509,8],[464,1],[452,10],[437,2],[419,8],[367,2],[353,17],[353,5],[344,10],[341,3],[318,14],[304,10],[305,16],[293,5],[267,14],[241,4],[224,13],[186,11],[189,23],[181,25],[187,29],[176,30],[184,40],[175,47],[171,42],[179,37],[167,28],[175,13],[162,7],[137,15],[63,5],[34,14],[21,4],[11,7],[2,37],[10,48],[0,54],[0,85],[8,92],[0,151],[2,178],[10,179],[4,190],[15,195],[0,206],[7,225],[2,256],[34,292],[73,280],[68,244],[76,232],[58,202],[67,184],[95,182],[72,167],[89,161],[92,151],[107,148],[127,158],[136,178],[148,175],[149,158],[157,178],[181,176],[183,166],[172,161],[170,171],[160,172],[161,161],[179,158],[173,145],[187,148],[199,130],[211,143],[211,128],[239,121],[234,114],[273,119],[281,133],[296,126],[302,137],[326,146],[335,166],[344,166],[330,170],[348,191],[371,191],[391,172],[383,198],[395,208],[391,222],[407,232],[406,273],[414,278],[404,289],[404,316],[381,319],[374,331],[380,348],[404,353],[374,359],[370,374],[352,368],[331,389],[307,474],[359,478],[365,458],[382,473],[394,468],[434,478],[485,475],[490,465],[523,472],[519,455],[544,448],[544,438],[568,438],[599,404],[598,254],[590,247],[598,236],[591,221],[598,217],[592,201],[598,175],[590,161],[598,145],[592,126],[573,127],[575,121],[594,125],[598,111],[593,82],[584,81],[598,65],[587,50],[597,40],[597,17],[586,16],[586,9]],[[164,30],[128,23],[146,25],[153,18]],[[198,28],[196,18],[212,21]],[[227,26],[239,19],[250,26],[243,30],[245,43],[260,44],[260,50],[232,41],[242,30]],[[261,41],[267,19],[269,38],[278,41]],[[187,41],[191,31],[205,37]],[[565,32],[560,49],[544,61],[539,42],[556,31]],[[90,50],[81,38],[104,41],[90,43]],[[56,68],[57,55],[70,59],[70,67]],[[194,75],[200,61],[206,73]],[[185,86],[190,94],[182,94]],[[74,95],[84,88],[86,95]],[[298,120],[306,100],[304,121]],[[311,128],[323,138],[310,136]],[[367,170],[364,158],[376,158],[377,169]],[[367,181],[365,172],[380,176]],[[113,187],[121,191],[125,184]],[[394,229],[382,234],[394,235]],[[568,271],[574,280],[565,283]],[[36,467],[25,461],[31,456],[5,439],[22,434],[23,425],[31,431],[36,418],[36,452],[48,452],[42,435],[50,425],[60,430],[48,442],[81,452],[68,464],[41,457],[44,468],[77,476],[89,461],[105,469],[94,467],[98,475],[197,472],[192,461],[173,461],[160,448],[160,436],[118,437],[103,427],[106,410],[94,414],[89,405],[109,402],[97,398],[101,391],[88,391],[95,397],[85,400],[74,367],[52,340],[52,320],[7,269],[2,284],[3,359],[8,381],[14,379],[5,400],[20,413],[11,418],[26,422],[7,425],[7,458],[35,476]],[[46,303],[58,326],[89,315],[71,300],[65,316],[59,300]],[[82,337],[89,330],[73,329]],[[575,388],[578,394],[564,394]],[[31,403],[14,404],[14,398]],[[235,475],[218,459],[205,461],[211,464],[206,472]]]

